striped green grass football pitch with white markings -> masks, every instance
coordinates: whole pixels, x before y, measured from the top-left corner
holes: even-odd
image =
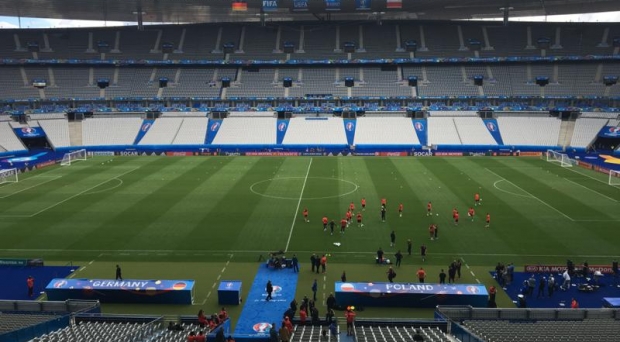
[[[483,206],[470,222],[466,212],[475,192]],[[354,224],[344,236],[323,232],[324,215],[337,221],[350,202],[359,209],[362,197],[368,202],[363,228]],[[388,200],[385,223],[382,197]],[[426,216],[428,201],[439,216]],[[216,296],[208,294],[218,276],[242,279],[247,288],[258,257],[276,250],[296,253],[302,268],[313,252],[331,254],[321,296],[343,270],[351,281],[386,280],[385,269],[373,265],[375,251],[382,247],[391,256],[406,249],[408,238],[414,256],[405,258],[399,281],[414,281],[422,265],[432,279],[455,258],[473,271],[464,272],[463,282],[488,284],[487,271],[499,261],[607,264],[618,255],[619,203],[620,189],[607,185],[605,175],[538,158],[102,157],[0,186],[0,257],[86,265],[77,277],[112,277],[113,265],[121,263],[126,277],[196,279],[197,304],[215,311]],[[451,220],[454,207],[461,213],[458,227]],[[303,221],[303,208],[310,223]],[[484,227],[486,212],[491,228]],[[428,238],[430,223],[439,224],[437,241]],[[389,246],[392,230],[396,248]],[[429,247],[424,263],[422,243]],[[310,292],[312,280],[301,273],[299,297]],[[500,298],[499,304],[510,302]]]

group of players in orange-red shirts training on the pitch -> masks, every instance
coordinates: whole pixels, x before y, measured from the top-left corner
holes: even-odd
[[[474,207],[478,207],[478,206],[482,206],[482,198],[480,197],[479,193],[475,193],[474,194]],[[362,198],[361,200],[361,211],[358,211],[357,214],[355,214],[355,204],[353,202],[351,202],[351,204],[349,204],[349,208],[347,209],[347,212],[345,214],[345,217],[343,217],[340,220],[340,234],[344,234],[346,231],[346,228],[349,227],[353,221],[353,216],[355,216],[356,222],[357,222],[357,226],[358,227],[364,227],[364,223],[363,223],[363,216],[362,216],[362,211],[366,210],[366,198]],[[476,217],[476,211],[474,210],[474,207],[469,207],[469,209],[467,210],[467,216],[471,219],[472,222],[474,222],[475,217]],[[398,216],[399,217],[403,217],[403,209],[404,206],[402,203],[400,203],[398,205]],[[385,222],[386,221],[386,213],[387,213],[387,199],[382,198],[381,199],[381,221]],[[304,217],[304,221],[306,223],[310,222],[310,219],[308,218],[309,216],[309,212],[308,212],[308,208],[304,208],[303,210],[303,217]],[[437,216],[439,216],[439,214],[436,214]],[[426,216],[433,216],[433,204],[431,201],[429,201],[426,204]],[[452,220],[454,222],[454,225],[458,226],[459,224],[459,211],[456,208],[452,209]],[[322,223],[323,223],[323,231],[327,232],[327,229],[329,228],[331,235],[334,234],[334,230],[336,228],[336,222],[334,220],[329,220],[327,218],[327,216],[323,216],[322,218]],[[491,227],[491,215],[487,212],[486,217],[485,217],[485,227],[489,228]],[[436,224],[431,224],[431,226],[429,227],[429,231],[431,231],[431,240],[436,238],[436,234],[434,233],[434,231],[437,230],[437,225]]]

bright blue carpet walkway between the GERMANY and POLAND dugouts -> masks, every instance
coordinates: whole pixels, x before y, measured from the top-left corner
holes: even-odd
[[[265,338],[271,323],[279,327],[297,288],[297,275],[292,269],[274,270],[261,264],[248,292],[245,305],[235,327],[235,337]],[[273,299],[267,302],[265,285],[271,280]]]

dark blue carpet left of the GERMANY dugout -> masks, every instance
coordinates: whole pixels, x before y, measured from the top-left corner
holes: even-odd
[[[66,278],[80,266],[0,266],[0,299],[35,300],[54,278]],[[34,278],[34,296],[28,297],[26,279]]]

